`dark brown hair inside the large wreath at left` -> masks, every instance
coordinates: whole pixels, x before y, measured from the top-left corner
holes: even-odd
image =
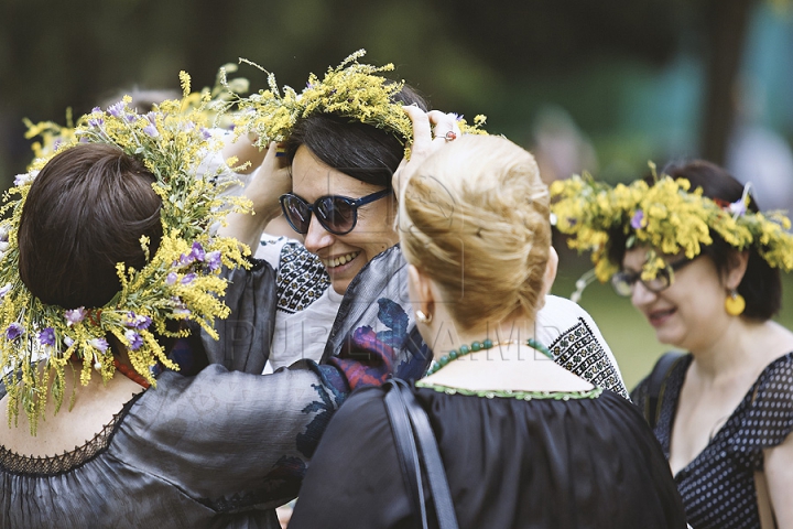
[[[84,143],[42,169],[19,228],[20,277],[44,303],[106,304],[120,290],[116,264],[141,269],[141,236],[153,255],[162,238],[154,176],[119,148]]]

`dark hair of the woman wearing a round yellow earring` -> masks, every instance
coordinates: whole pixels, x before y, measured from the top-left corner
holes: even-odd
[[[703,196],[709,198],[734,203],[743,195],[743,184],[724,169],[704,160],[671,164],[663,170],[663,173],[673,179],[686,179],[692,184],[692,191],[702,187]],[[652,183],[652,180],[645,180]],[[759,210],[754,197],[749,203],[749,210]],[[703,246],[702,253],[713,260],[719,274],[726,274],[732,267],[738,250],[728,245],[714,230],[710,230],[710,238],[713,244]],[[627,235],[621,230],[609,234],[609,259],[611,262],[622,262],[626,240]],[[773,317],[782,306],[780,271],[771,268],[754,247],[749,249],[749,263],[737,290],[746,300],[746,310],[743,311],[746,317],[767,321]]]

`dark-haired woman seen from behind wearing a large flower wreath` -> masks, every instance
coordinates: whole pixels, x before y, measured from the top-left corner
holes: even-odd
[[[274,280],[208,233],[225,198],[196,172],[210,142],[180,109],[96,110],[80,142],[11,191],[0,527],[280,528],[274,507],[294,498],[349,391],[344,370],[313,361],[269,376],[167,369],[186,323],[210,342],[215,319],[242,321],[250,285]],[[241,348],[233,360],[247,365]]]

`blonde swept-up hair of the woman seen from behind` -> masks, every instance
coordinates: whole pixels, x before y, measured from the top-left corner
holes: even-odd
[[[439,287],[456,323],[533,320],[551,247],[548,191],[534,156],[506,138],[464,136],[408,177],[402,249]]]

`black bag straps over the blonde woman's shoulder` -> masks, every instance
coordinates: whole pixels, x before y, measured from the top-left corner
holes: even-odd
[[[437,515],[439,529],[457,529],[457,515],[454,510],[452,493],[448,487],[448,482],[446,481],[446,471],[443,466],[443,460],[441,460],[441,452],[438,451],[437,441],[435,440],[435,433],[430,424],[430,419],[427,418],[424,409],[416,401],[406,382],[402,380],[393,380],[390,382],[390,391],[385,396],[385,409],[388,411],[389,419],[392,420],[391,428],[394,431],[394,439],[401,440],[397,441],[401,465],[403,468],[411,466],[409,464],[404,464],[402,460],[404,460],[404,462],[410,462],[413,460],[414,454],[417,455],[417,460],[421,460],[424,463],[424,468],[426,469],[427,482],[430,484],[432,498],[435,503],[435,514]],[[398,415],[403,415],[408,419],[409,423],[405,424],[403,419],[397,419],[397,422],[394,422],[393,418]],[[404,427],[402,427],[403,424],[408,427],[406,430],[409,430],[411,435],[398,432],[400,429],[404,430]],[[413,427],[412,429],[410,428],[411,425]],[[419,451],[416,451],[416,444],[408,446],[408,449],[412,450],[404,450],[409,439],[411,441],[413,440],[412,433],[415,433]],[[426,509],[421,484],[421,466],[414,466],[414,468],[417,468],[417,475],[416,478],[411,477],[410,482],[417,484],[419,494],[415,494],[415,490],[412,490],[412,485],[409,486],[409,490],[411,490],[413,497],[416,498],[413,501],[414,506],[416,503],[421,504],[420,512],[423,523],[422,527],[427,527]]]

